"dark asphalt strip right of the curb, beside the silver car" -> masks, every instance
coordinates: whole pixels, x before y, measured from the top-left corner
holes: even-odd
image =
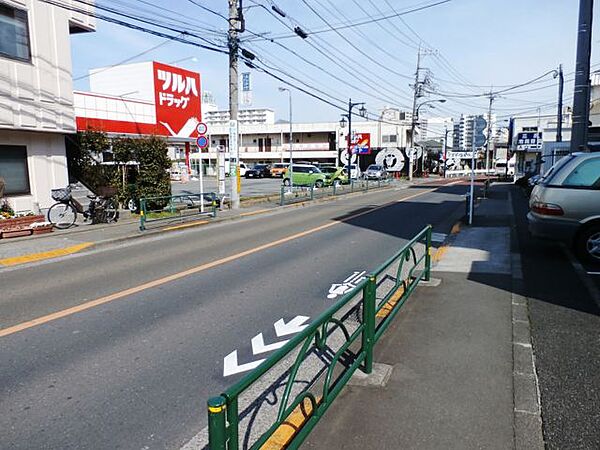
[[[527,200],[520,190],[513,193],[544,440],[549,449],[598,449],[600,305],[589,286],[600,286],[600,277],[578,273],[556,243],[531,238]]]

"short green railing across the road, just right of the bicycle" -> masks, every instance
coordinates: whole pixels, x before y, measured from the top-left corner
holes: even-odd
[[[180,222],[189,217],[217,217],[217,195],[214,192],[170,195],[140,199],[140,230],[153,222]]]

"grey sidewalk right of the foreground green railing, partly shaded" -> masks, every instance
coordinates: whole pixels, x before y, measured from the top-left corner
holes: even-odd
[[[491,190],[440,252],[441,284],[417,289],[376,345],[387,384],[345,388],[303,448],[543,448],[508,198]]]

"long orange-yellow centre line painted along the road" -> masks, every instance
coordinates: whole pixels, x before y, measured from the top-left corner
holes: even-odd
[[[79,312],[82,312],[82,311],[86,311],[86,310],[94,308],[96,306],[100,306],[100,305],[103,305],[105,303],[110,303],[110,302],[112,302],[114,300],[118,300],[118,299],[127,297],[129,295],[137,294],[137,293],[140,293],[140,292],[145,291],[147,289],[152,289],[152,288],[155,288],[157,286],[161,286],[163,284],[170,283],[171,281],[176,281],[176,280],[179,280],[181,278],[184,278],[184,277],[187,277],[187,276],[190,276],[190,275],[194,275],[196,273],[203,272],[203,271],[208,270],[208,269],[212,269],[213,267],[221,266],[223,264],[226,264],[226,263],[231,262],[231,261],[235,261],[235,260],[237,260],[239,258],[242,258],[244,256],[252,255],[252,254],[258,253],[258,252],[260,252],[262,250],[266,250],[266,249],[269,249],[269,248],[272,248],[272,247],[276,247],[276,246],[284,244],[286,242],[290,242],[290,241],[293,241],[295,239],[298,239],[298,238],[301,238],[301,237],[308,236],[310,234],[316,233],[318,231],[325,230],[327,228],[331,228],[331,227],[333,227],[335,225],[338,225],[340,223],[344,223],[344,222],[347,222],[349,220],[356,219],[357,217],[364,216],[365,214],[370,214],[370,213],[372,213],[374,211],[377,211],[379,209],[387,208],[388,206],[393,205],[395,203],[401,203],[401,202],[404,202],[406,200],[410,200],[410,199],[413,199],[415,197],[419,197],[420,195],[428,194],[430,192],[435,191],[436,189],[437,188],[433,188],[433,189],[428,189],[428,190],[423,191],[423,192],[418,192],[418,193],[410,195],[410,196],[408,196],[406,198],[402,198],[400,200],[394,200],[394,201],[391,201],[389,203],[385,203],[383,205],[376,206],[375,208],[371,208],[371,209],[369,209],[367,211],[363,211],[363,212],[354,214],[352,216],[346,217],[344,220],[336,220],[336,221],[333,221],[333,222],[329,222],[329,223],[326,223],[324,225],[320,225],[318,227],[311,228],[309,230],[302,231],[300,233],[296,233],[296,234],[293,234],[291,236],[287,236],[287,237],[284,237],[282,239],[278,239],[276,241],[269,242],[268,244],[259,245],[258,247],[254,247],[254,248],[251,248],[249,250],[245,250],[243,252],[236,253],[235,255],[227,256],[225,258],[221,258],[221,259],[218,259],[216,261],[212,261],[212,262],[207,263],[207,264],[202,264],[200,266],[192,267],[191,269],[187,269],[187,270],[184,270],[182,272],[178,272],[178,273],[175,273],[175,274],[172,274],[172,275],[168,275],[168,276],[163,277],[163,278],[159,278],[159,279],[156,279],[156,280],[153,280],[153,281],[149,281],[147,283],[143,283],[143,284],[140,284],[138,286],[134,286],[132,288],[125,289],[123,291],[115,292],[114,294],[110,294],[110,295],[107,295],[105,297],[100,297],[100,298],[97,298],[96,300],[92,300],[92,301],[89,301],[89,302],[86,302],[86,303],[82,303],[80,305],[76,305],[76,306],[73,306],[71,308],[63,309],[62,311],[57,311],[55,313],[48,314],[46,316],[38,317],[37,319],[28,320],[27,322],[22,322],[20,324],[13,325],[13,326],[8,327],[8,328],[0,329],[0,337],[4,337],[4,336],[8,336],[8,335],[11,335],[11,334],[14,334],[14,333],[18,333],[19,331],[27,330],[28,328],[32,328],[32,327],[35,327],[35,326],[38,326],[38,325],[42,325],[42,324],[45,324],[45,323],[48,323],[48,322],[52,322],[54,320],[61,319],[63,317],[71,316],[73,314],[76,314],[76,313],[79,313]]]

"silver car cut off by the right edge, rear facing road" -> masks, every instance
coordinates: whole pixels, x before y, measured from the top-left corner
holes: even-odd
[[[565,156],[538,181],[529,200],[532,235],[567,242],[600,262],[600,154]]]

